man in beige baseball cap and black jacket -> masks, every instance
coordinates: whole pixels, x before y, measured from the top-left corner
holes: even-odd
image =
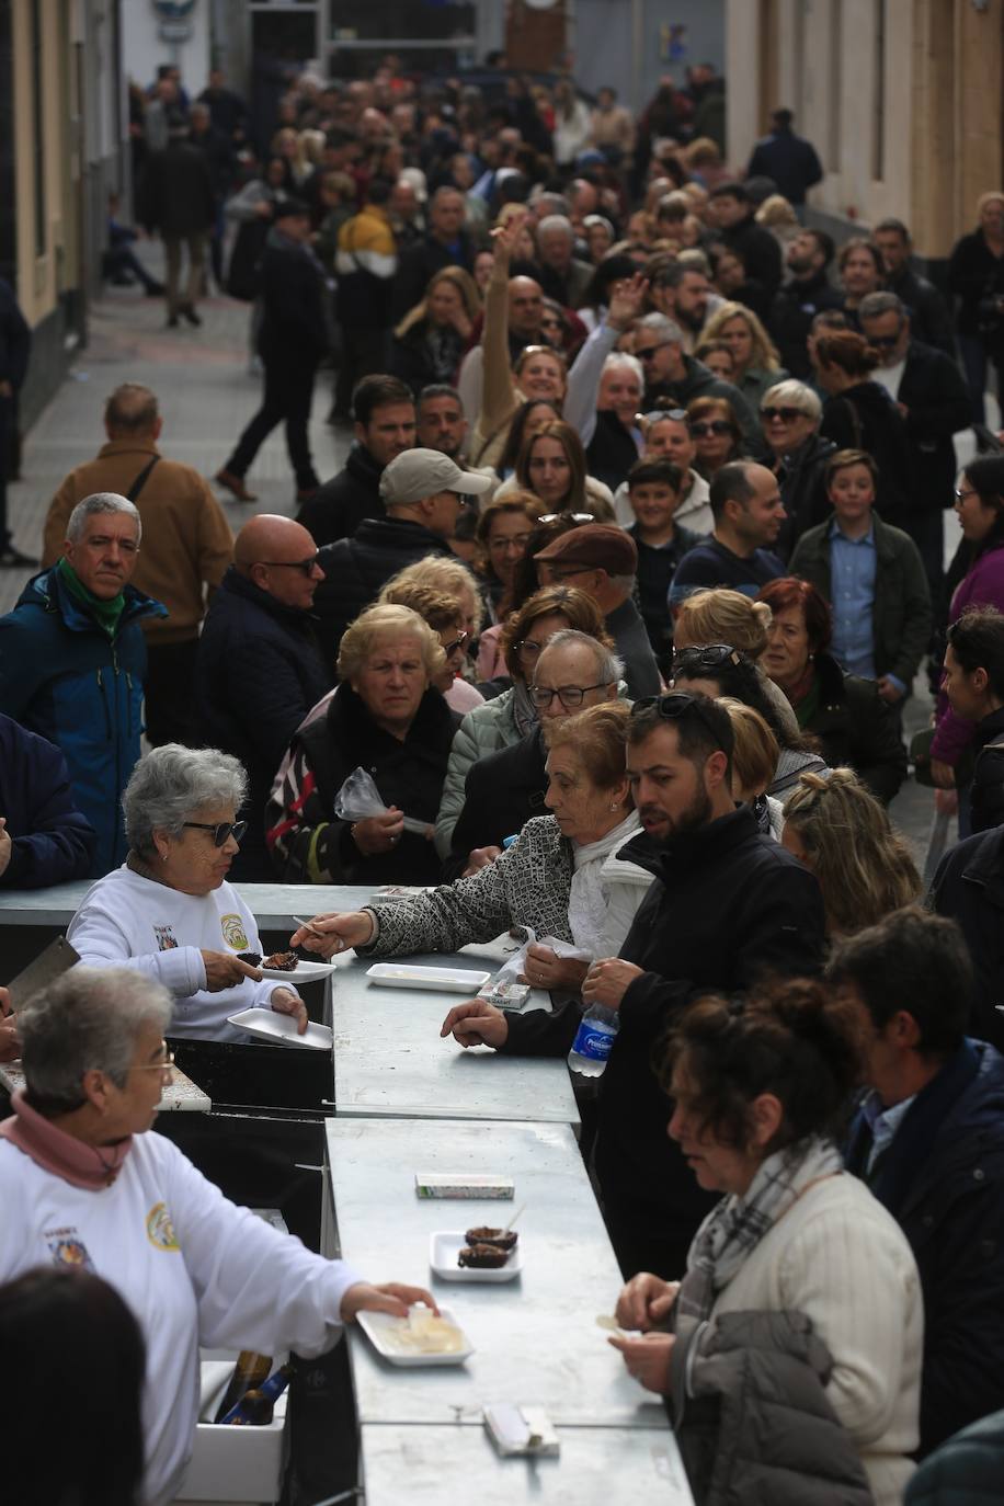
[[[489,476],[464,471],[438,450],[405,450],[379,479],[387,517],[363,518],[351,539],[327,544],[318,554],[324,581],[316,595],[321,649],[331,666],[349,622],[381,593],[391,575],[429,554],[452,557],[468,495],[482,495]]]

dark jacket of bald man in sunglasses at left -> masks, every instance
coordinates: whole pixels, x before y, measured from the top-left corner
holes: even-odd
[[[199,639],[194,693],[203,747],[232,753],[250,777],[238,878],[274,876],[265,855],[265,801],[294,732],[330,688],[310,616],[284,607],[232,565]]]

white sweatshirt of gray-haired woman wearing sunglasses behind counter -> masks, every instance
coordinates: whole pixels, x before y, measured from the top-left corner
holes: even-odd
[[[132,967],[175,995],[173,1036],[247,1042],[227,1024],[241,1009],[269,1009],[277,988],[245,977],[211,994],[202,952],[260,952],[254,916],[230,884],[209,895],[181,895],[122,864],[99,878],[69,922],[66,940],[87,967]]]

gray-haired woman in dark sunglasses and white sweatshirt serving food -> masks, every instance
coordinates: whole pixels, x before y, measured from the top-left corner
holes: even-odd
[[[122,797],[129,855],[87,890],[66,932],[84,964],[120,964],[161,983],[175,1000],[173,1036],[244,1042],[227,1020],[253,1008],[307,1029],[297,991],[241,958],[262,953],[254,916],[226,881],[245,795],[247,774],[227,753],[154,748]]]

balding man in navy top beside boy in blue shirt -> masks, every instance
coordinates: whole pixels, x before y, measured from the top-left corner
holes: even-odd
[[[771,553],[786,518],[774,471],[754,461],[723,465],[710,483],[710,509],[715,532],[680,560],[670,590],[671,607],[713,586],[756,596],[769,580],[784,574]]]

